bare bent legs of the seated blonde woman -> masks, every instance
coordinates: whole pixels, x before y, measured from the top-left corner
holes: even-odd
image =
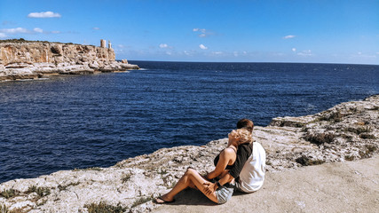
[[[208,195],[205,193],[205,183],[209,183],[209,181],[201,177],[199,172],[193,169],[188,169],[186,170],[186,173],[183,175],[183,177],[179,179],[177,185],[175,185],[169,193],[162,195],[162,199],[164,201],[172,201],[174,200],[175,195],[187,187],[195,185],[201,191],[201,193],[204,193],[210,199],[210,201],[217,202],[216,193],[210,193]]]

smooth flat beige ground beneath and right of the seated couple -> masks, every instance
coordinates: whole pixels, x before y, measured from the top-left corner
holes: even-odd
[[[271,172],[262,189],[234,193],[223,205],[191,189],[179,193],[176,202],[153,212],[377,212],[378,168],[376,156]]]

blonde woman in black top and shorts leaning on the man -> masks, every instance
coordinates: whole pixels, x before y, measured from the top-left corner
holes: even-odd
[[[232,130],[228,134],[228,144],[226,148],[221,151],[215,158],[215,170],[209,172],[205,177],[202,177],[199,172],[188,168],[183,177],[181,177],[169,193],[163,194],[161,197],[156,198],[156,203],[162,204],[173,202],[174,196],[183,191],[187,187],[197,188],[204,193],[210,201],[217,202],[218,204],[228,201],[233,194],[234,178],[227,176],[228,171],[233,168],[233,164],[237,158],[237,148],[241,144],[250,143],[251,132],[246,129]],[[212,183],[209,180],[218,178],[220,181]]]

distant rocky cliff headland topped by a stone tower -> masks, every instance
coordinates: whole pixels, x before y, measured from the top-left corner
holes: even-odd
[[[36,79],[43,75],[81,75],[138,69],[115,60],[111,43],[100,46],[24,39],[0,40],[0,81]]]

